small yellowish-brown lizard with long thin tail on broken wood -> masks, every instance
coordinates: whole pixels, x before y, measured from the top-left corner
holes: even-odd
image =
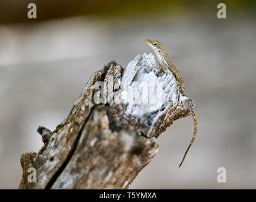
[[[159,73],[161,73],[165,69],[169,69],[169,71],[171,71],[171,73],[174,74],[174,77],[175,77],[175,79],[178,83],[178,86],[179,86],[180,93],[182,95],[186,95],[185,85],[184,85],[184,82],[183,82],[183,80],[180,76],[180,73],[179,73],[178,69],[174,66],[173,62],[171,61],[171,59],[168,55],[168,52],[164,48],[164,46],[158,40],[145,39],[145,41],[147,42],[149,47],[151,47],[154,50],[154,52],[155,52],[155,54],[156,54],[156,56],[159,60],[159,64],[160,64]],[[193,113],[192,117],[193,117],[193,121],[194,121],[193,137],[192,137],[192,140],[190,141],[190,145],[188,145],[188,148],[185,151],[185,155],[183,156],[179,167],[181,167],[183,161],[185,160],[186,154],[188,153],[188,150],[190,149],[190,146],[192,146],[193,141],[195,140],[195,137],[197,136],[197,116],[195,116],[195,113]]]

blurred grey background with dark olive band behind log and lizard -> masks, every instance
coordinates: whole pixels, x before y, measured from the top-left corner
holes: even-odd
[[[255,1],[38,0],[37,19],[27,18],[28,3],[0,3],[1,189],[18,187],[21,154],[40,150],[37,127],[55,129],[104,64],[152,52],[145,37],[160,40],[180,70],[198,136],[179,169],[193,119],[175,121],[131,188],[256,188]]]

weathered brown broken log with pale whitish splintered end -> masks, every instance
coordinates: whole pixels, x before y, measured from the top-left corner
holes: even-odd
[[[73,108],[39,153],[21,155],[20,189],[126,189],[157,153],[157,138],[193,113],[170,71],[158,74],[152,54],[124,70],[95,71]],[[37,182],[28,182],[28,168]]]

